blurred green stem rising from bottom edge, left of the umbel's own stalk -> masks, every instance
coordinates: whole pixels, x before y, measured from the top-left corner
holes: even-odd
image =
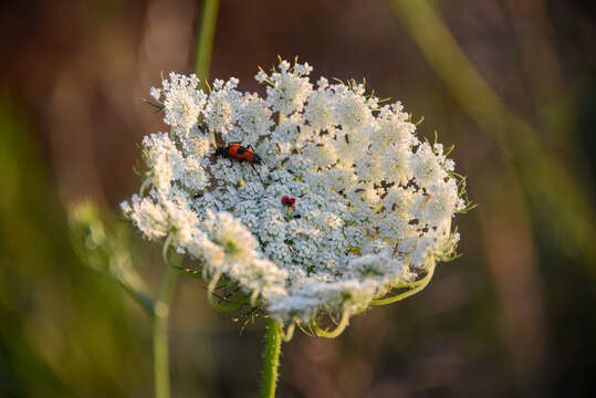
[[[161,287],[155,303],[153,324],[155,397],[169,398],[169,347],[168,317],[169,305],[178,274],[166,264]]]

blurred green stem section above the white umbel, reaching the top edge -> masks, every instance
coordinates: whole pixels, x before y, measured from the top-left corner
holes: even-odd
[[[211,54],[213,52],[213,39],[218,19],[219,0],[205,0],[202,2],[202,15],[197,38],[197,57],[195,60],[195,73],[201,80],[202,85],[209,77]]]

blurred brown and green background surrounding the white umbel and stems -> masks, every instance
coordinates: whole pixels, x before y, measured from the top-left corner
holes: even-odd
[[[84,266],[67,212],[100,206],[155,292],[159,248],[117,205],[140,185],[143,103],[194,69],[191,0],[0,6],[0,396],[153,395],[150,321]],[[568,0],[222,0],[211,78],[276,55],[404,102],[420,135],[456,144],[479,207],[462,258],[337,339],[296,333],[281,397],[587,397],[596,390],[596,6]],[[240,335],[181,277],[174,397],[254,397],[264,323]]]

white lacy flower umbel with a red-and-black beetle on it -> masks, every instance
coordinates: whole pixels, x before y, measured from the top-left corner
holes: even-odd
[[[260,71],[264,98],[233,77],[205,93],[170,74],[151,95],[171,133],[143,140],[146,180],[122,208],[147,239],[199,260],[210,293],[234,283],[279,322],[333,336],[313,323],[322,310],[341,313],[342,329],[400,300],[395,289],[424,287],[453,258],[467,203],[453,161],[399,102],[355,82],[313,85],[311,71]],[[221,156],[232,143],[262,161]]]

